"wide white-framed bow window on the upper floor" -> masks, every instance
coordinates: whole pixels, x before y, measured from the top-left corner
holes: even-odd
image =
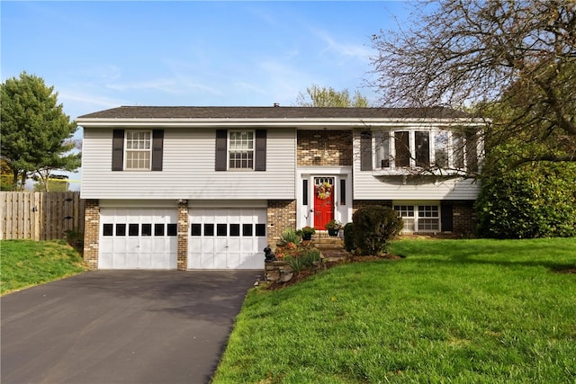
[[[475,170],[478,140],[447,129],[377,130],[373,134],[374,170],[408,167]]]

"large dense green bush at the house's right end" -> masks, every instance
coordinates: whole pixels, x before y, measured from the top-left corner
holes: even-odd
[[[576,236],[576,165],[529,163],[491,175],[475,209],[482,237]]]

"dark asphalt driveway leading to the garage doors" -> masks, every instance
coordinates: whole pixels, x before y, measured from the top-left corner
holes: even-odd
[[[2,298],[1,382],[207,383],[259,271],[94,271]]]

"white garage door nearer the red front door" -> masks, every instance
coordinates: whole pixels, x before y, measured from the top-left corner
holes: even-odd
[[[266,209],[191,209],[188,269],[262,269]]]

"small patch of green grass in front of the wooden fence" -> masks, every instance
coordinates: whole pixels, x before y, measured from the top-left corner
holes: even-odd
[[[3,295],[87,269],[82,257],[64,240],[4,240],[0,252]]]

